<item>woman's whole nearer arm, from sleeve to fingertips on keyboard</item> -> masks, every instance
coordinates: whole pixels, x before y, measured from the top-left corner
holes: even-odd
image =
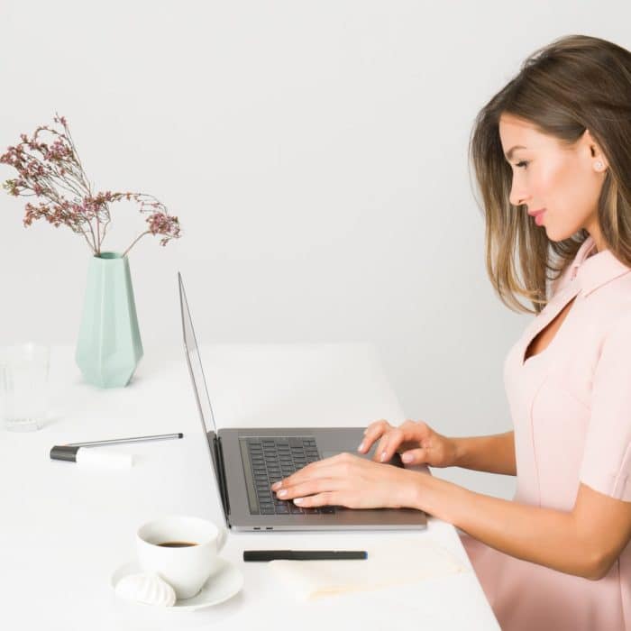
[[[631,502],[580,484],[572,510],[492,498],[447,480],[340,453],[274,484],[303,508],[416,508],[500,552],[599,580],[631,539]]]

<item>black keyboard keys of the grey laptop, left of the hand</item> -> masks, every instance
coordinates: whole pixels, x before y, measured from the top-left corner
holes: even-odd
[[[248,438],[251,474],[258,500],[258,511],[253,515],[299,515],[334,513],[330,506],[300,508],[293,501],[276,497],[270,486],[302,469],[309,462],[320,460],[314,436]]]

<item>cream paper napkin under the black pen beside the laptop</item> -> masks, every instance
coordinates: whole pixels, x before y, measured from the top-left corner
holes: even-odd
[[[315,600],[349,591],[379,590],[466,572],[453,553],[432,541],[408,538],[370,545],[361,561],[270,561],[271,572],[297,599]]]

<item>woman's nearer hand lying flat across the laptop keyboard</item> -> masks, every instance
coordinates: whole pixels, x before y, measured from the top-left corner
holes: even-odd
[[[416,508],[423,475],[338,453],[307,464],[271,489],[279,499],[293,499],[302,508]]]

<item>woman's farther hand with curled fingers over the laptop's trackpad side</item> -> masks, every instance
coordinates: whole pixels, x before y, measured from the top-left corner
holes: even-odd
[[[456,444],[451,438],[434,432],[423,421],[406,421],[393,427],[388,421],[371,423],[357,451],[367,453],[380,439],[373,460],[386,462],[398,452],[406,464],[428,464],[430,467],[451,467],[456,461]]]

